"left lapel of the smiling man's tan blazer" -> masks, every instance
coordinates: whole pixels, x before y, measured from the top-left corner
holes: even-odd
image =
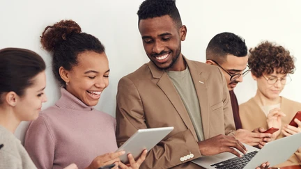
[[[159,86],[159,88],[161,88],[164,94],[168,97],[169,101],[171,102],[171,104],[173,104],[174,108],[176,108],[176,111],[185,123],[187,129],[190,129],[192,131],[194,138],[197,140],[196,132],[194,130],[192,121],[190,120],[190,116],[186,111],[185,105],[183,104],[180,95],[178,95],[178,91],[173,86],[171,79],[169,79],[168,74],[158,69],[152,62],[148,63],[148,67],[150,67],[153,78],[159,79],[157,81],[157,86]]]

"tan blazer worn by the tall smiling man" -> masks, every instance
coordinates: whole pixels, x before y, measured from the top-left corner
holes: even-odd
[[[204,137],[231,133],[235,127],[224,75],[216,66],[184,59],[199,98]],[[142,65],[119,81],[116,99],[118,146],[137,129],[174,127],[148,152],[141,168],[201,168],[190,162],[201,156],[196,132],[166,72],[152,62]],[[192,159],[181,161],[190,153]]]

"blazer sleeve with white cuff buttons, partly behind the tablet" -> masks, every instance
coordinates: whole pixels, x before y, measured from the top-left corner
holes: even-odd
[[[127,77],[123,77],[118,83],[116,102],[116,139],[118,147],[120,147],[138,129],[148,127],[139,91]],[[141,168],[172,168],[192,160],[180,161],[180,158],[175,158],[182,154],[190,154],[190,152],[194,154],[192,159],[201,156],[199,145],[196,143],[190,129],[187,129],[155,145],[148,152]]]

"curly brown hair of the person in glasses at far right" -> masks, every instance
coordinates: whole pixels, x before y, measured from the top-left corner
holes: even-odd
[[[293,74],[295,58],[287,49],[272,42],[261,42],[258,47],[249,49],[249,67],[255,77],[272,74],[274,70],[280,74]]]

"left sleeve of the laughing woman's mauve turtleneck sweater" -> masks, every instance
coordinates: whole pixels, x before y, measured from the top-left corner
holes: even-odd
[[[55,141],[49,131],[49,125],[43,116],[29,124],[24,147],[33,163],[39,169],[52,168],[54,162]]]

